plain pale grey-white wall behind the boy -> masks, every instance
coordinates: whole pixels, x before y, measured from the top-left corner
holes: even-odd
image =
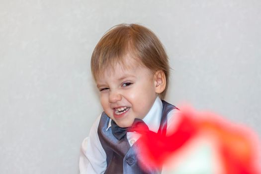
[[[77,174],[102,111],[90,56],[118,23],[141,23],[170,57],[167,100],[261,135],[260,0],[0,0],[0,174]]]

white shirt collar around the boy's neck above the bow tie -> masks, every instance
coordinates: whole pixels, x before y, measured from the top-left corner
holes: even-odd
[[[158,96],[155,99],[150,111],[143,118],[143,121],[147,124],[149,129],[156,133],[160,128],[162,109],[163,109],[163,104],[160,97]],[[111,119],[109,120],[109,124],[106,130],[108,130],[110,127],[111,127]]]

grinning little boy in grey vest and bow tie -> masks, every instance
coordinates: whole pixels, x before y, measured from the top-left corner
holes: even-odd
[[[144,26],[120,24],[97,43],[91,72],[100,91],[104,112],[82,145],[81,174],[140,174],[142,156],[133,128],[146,124],[150,131],[166,134],[176,108],[164,98],[169,84],[168,57],[157,36]],[[135,123],[135,125],[134,125]]]

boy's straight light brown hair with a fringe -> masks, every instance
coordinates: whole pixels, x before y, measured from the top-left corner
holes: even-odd
[[[163,71],[166,89],[159,94],[163,99],[169,84],[168,56],[158,37],[148,28],[138,24],[119,24],[109,29],[95,46],[91,56],[91,73],[96,81],[104,70],[113,70],[116,64],[124,65],[124,57],[130,54],[140,60],[153,73]]]

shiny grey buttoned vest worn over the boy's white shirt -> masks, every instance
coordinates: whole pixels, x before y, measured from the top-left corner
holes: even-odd
[[[168,124],[168,113],[176,107],[164,100],[163,110],[161,117],[161,124],[158,133],[166,135]],[[110,118],[102,112],[100,122],[98,125],[98,136],[100,143],[106,153],[107,168],[104,174],[160,174],[161,169],[152,169],[150,164],[139,161],[139,156],[142,156],[142,152],[137,152],[137,140],[131,147],[126,138],[117,140],[111,132],[111,128],[108,130]],[[146,171],[142,171],[139,163],[146,165]]]

